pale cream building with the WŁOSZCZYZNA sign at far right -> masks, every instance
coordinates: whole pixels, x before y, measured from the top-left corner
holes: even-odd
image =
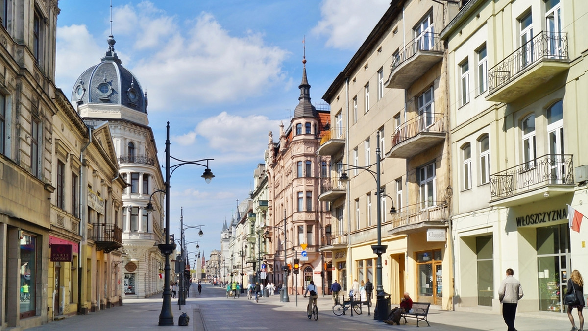
[[[447,41],[456,309],[500,312],[515,270],[519,312],[564,312],[572,270],[588,275],[584,215],[588,2],[473,0]],[[584,220],[585,223],[585,220]]]

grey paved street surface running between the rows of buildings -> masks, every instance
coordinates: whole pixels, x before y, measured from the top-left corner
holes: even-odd
[[[290,302],[280,302],[278,295],[262,297],[259,303],[248,300],[246,296],[233,300],[225,298],[225,291],[219,287],[206,285],[202,296],[192,295],[186,299],[187,305],[179,309],[177,299],[172,300],[174,315],[173,326],[158,326],[158,316],[161,312],[161,293],[147,299],[126,299],[122,306],[115,306],[101,312],[85,316],[71,316],[66,319],[50,322],[46,325],[33,327],[28,330],[287,330],[303,328],[306,331],[333,330],[421,330],[417,329],[415,320],[409,320],[407,325],[387,325],[377,322],[368,316],[367,309],[362,315],[350,313],[345,316],[335,316],[332,312],[330,296],[319,296],[319,320],[309,321],[304,314],[308,298],[289,296]],[[259,306],[258,306],[259,305]],[[365,306],[364,306],[365,307]],[[365,307],[367,308],[367,307]],[[237,310],[238,309],[238,310]],[[181,312],[190,316],[189,326],[178,326]],[[259,314],[258,314],[259,312]],[[273,313],[275,312],[275,313]],[[280,313],[282,312],[282,313]],[[348,311],[349,312],[349,311]],[[232,317],[224,317],[232,316]],[[480,331],[506,330],[502,316],[496,313],[476,312],[448,312],[431,310],[429,312],[430,327],[420,322],[423,331]],[[577,323],[577,316],[576,316]],[[570,329],[567,315],[556,313],[519,313],[516,317],[516,328],[519,331],[549,330],[567,331]]]

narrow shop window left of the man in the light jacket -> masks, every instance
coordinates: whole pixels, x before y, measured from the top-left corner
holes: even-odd
[[[478,305],[492,306],[494,297],[494,245],[492,236],[476,238]]]

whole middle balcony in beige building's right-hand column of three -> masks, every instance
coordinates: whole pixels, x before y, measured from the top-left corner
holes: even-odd
[[[412,158],[445,141],[447,119],[442,113],[423,113],[406,121],[392,135],[387,158]]]

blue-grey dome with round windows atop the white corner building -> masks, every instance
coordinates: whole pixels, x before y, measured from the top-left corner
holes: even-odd
[[[72,91],[72,101],[109,103],[147,113],[147,93],[129,69],[121,64],[114,51],[115,40],[108,36],[108,51],[102,62],[86,69],[79,76]]]

